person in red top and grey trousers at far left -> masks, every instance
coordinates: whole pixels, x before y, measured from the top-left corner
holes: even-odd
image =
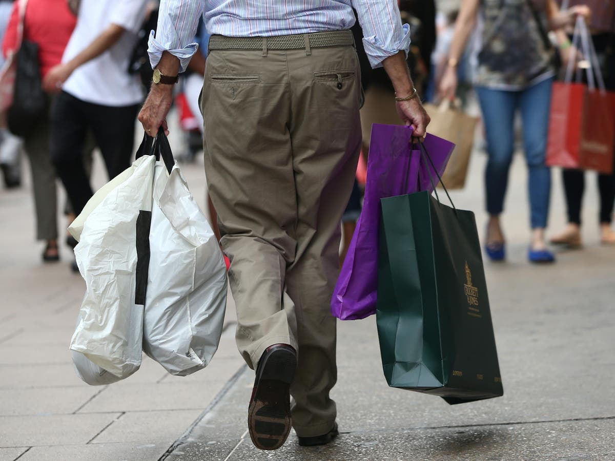
[[[2,52],[7,56],[16,52],[20,24],[19,1],[7,27]],[[46,78],[62,59],[66,44],[73,33],[76,18],[66,0],[28,0],[23,24],[23,38],[39,46],[41,76]],[[36,209],[36,237],[46,242],[43,261],[58,261],[57,189],[55,168],[49,156],[50,118],[35,122],[24,137],[24,147],[32,171],[34,205]]]

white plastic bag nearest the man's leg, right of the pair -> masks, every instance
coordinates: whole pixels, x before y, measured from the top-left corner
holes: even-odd
[[[170,374],[207,366],[226,308],[226,266],[177,165],[156,166],[143,350]]]

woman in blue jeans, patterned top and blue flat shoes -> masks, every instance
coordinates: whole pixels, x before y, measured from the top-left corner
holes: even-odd
[[[461,4],[448,66],[440,83],[440,96],[454,97],[459,60],[480,18],[475,87],[489,156],[485,170],[489,213],[485,250],[493,261],[506,257],[500,217],[515,149],[517,111],[522,118],[523,148],[529,170],[531,241],[528,259],[531,262],[555,261],[545,238],[551,189],[545,157],[551,87],[557,70],[555,53],[558,51],[550,44],[547,31],[572,25],[579,14],[589,15],[589,9],[577,6],[561,14],[554,0],[464,0]]]

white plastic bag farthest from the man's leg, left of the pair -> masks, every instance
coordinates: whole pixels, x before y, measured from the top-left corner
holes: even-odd
[[[149,233],[155,164],[153,156],[135,161],[69,228],[79,241],[75,258],[86,285],[70,349],[120,379],[141,366],[145,297],[137,299],[137,234]]]

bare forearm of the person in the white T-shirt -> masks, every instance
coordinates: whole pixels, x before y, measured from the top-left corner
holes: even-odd
[[[88,61],[97,58],[111,48],[124,33],[124,28],[111,24],[98,37],[96,37],[85,49],[70,61],[54,66],[45,79],[43,88],[48,92],[57,92],[62,84],[74,72],[76,68]]]

